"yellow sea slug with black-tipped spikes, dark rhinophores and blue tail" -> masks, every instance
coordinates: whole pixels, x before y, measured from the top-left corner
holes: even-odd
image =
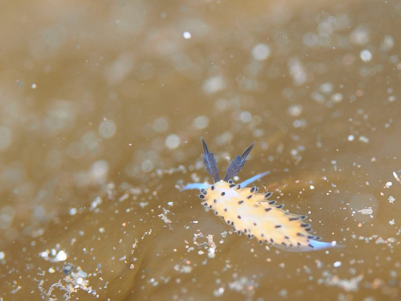
[[[198,197],[202,199],[205,207],[214,210],[215,214],[233,226],[238,234],[255,237],[260,244],[268,243],[289,251],[311,251],[336,246],[335,241],[318,241],[319,237],[311,235],[310,225],[303,222],[305,215],[286,212],[282,210],[283,205],[275,205],[276,201],[268,200],[273,192],[258,193],[259,188],[256,186],[246,188],[247,185],[268,175],[269,171],[257,174],[240,184],[233,182],[232,178],[244,167],[246,157],[256,142],[241,156],[237,155],[234,158],[221,180],[213,153],[209,152],[205,139],[200,139],[205,151],[202,159],[214,184],[190,183],[182,187],[181,191],[200,189]]]

